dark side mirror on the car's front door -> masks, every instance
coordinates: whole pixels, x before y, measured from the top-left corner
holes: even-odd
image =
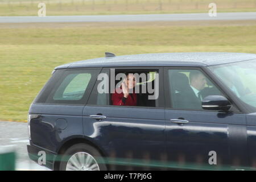
[[[231,102],[224,96],[207,96],[202,101],[205,110],[229,111],[231,107]]]

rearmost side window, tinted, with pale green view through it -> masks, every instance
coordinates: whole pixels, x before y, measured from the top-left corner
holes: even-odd
[[[40,94],[36,102],[46,104],[79,104],[85,105],[93,88],[99,69],[67,69],[53,74],[46,89]]]

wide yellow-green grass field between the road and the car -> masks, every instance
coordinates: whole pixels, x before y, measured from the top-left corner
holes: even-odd
[[[1,24],[0,119],[26,121],[36,94],[57,65],[152,52],[256,53],[256,22]]]

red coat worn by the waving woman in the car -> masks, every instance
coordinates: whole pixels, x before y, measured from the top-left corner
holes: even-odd
[[[121,93],[117,93],[115,90],[115,93],[112,94],[111,100],[112,105],[115,106],[137,106],[137,94],[136,93],[130,93],[129,96],[125,99],[123,99],[123,93],[122,89],[119,88]]]

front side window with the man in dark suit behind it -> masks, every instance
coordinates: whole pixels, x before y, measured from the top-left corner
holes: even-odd
[[[198,69],[169,69],[169,92],[173,109],[203,110],[207,96],[223,96],[221,91]]]

